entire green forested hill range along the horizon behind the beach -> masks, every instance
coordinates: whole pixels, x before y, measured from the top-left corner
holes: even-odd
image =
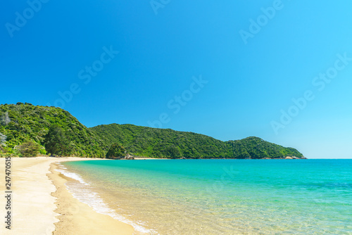
[[[0,155],[65,155],[106,158],[113,148],[146,158],[303,159],[295,148],[285,148],[258,137],[220,141],[193,132],[177,132],[136,125],[85,127],[61,108],[30,103],[0,105]]]

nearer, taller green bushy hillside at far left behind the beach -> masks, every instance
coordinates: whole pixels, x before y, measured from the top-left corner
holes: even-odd
[[[61,127],[72,155],[103,158],[106,153],[95,134],[61,108],[32,106],[30,103],[5,104],[0,105],[0,120],[0,133],[6,136],[2,148],[7,153],[17,154],[16,149],[28,140],[44,148],[51,125]],[[41,153],[46,152],[43,149]]]

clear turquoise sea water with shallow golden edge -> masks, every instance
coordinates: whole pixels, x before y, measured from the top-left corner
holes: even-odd
[[[352,160],[63,165],[77,198],[136,234],[352,234]]]

